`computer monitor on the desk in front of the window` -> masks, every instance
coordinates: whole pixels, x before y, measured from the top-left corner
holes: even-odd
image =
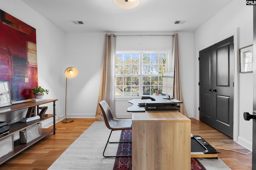
[[[173,98],[174,90],[174,71],[166,72],[163,74],[162,80],[162,93],[170,98]]]

